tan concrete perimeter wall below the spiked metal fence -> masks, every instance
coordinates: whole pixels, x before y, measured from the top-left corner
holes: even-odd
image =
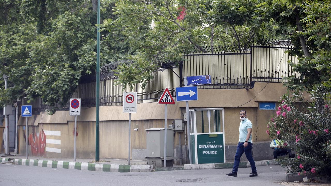
[[[277,102],[286,88],[281,83],[256,83],[253,89],[199,89],[199,100],[189,102],[190,109],[195,108],[224,108],[226,159],[234,157],[239,138],[239,111],[245,109],[253,124],[254,155],[257,160],[272,158],[269,149],[269,136],[265,133],[269,118],[276,110],[259,110],[259,102]],[[278,106],[278,103],[276,104]],[[167,125],[173,119],[182,119],[186,112],[185,103],[176,102],[168,105]],[[137,113],[131,114],[131,159],[144,160],[146,152],[146,131],[148,128],[164,127],[164,105],[143,103],[137,105]],[[201,111],[200,111],[201,112]],[[221,114],[221,113],[220,113]],[[221,115],[222,116],[222,115]],[[81,116],[77,116],[77,158],[95,157],[95,107],[82,108]],[[202,119],[201,114],[197,119]],[[220,120],[222,121],[221,117]],[[204,117],[205,130],[208,131],[207,116]],[[23,125],[25,118],[19,118],[19,149],[25,152]],[[46,157],[73,157],[74,146],[74,116],[68,111],[57,111],[53,116],[41,112],[28,118],[29,130],[35,127],[40,133],[41,125],[47,131]],[[201,125],[200,125],[201,127]],[[31,129],[30,129],[31,128]],[[134,129],[138,128],[137,131]],[[186,128],[186,127],[185,127]],[[221,123],[222,128],[222,123]],[[199,129],[201,130],[201,128]],[[128,114],[122,112],[122,106],[100,107],[100,158],[128,158]],[[31,132],[30,132],[31,133]],[[57,135],[48,135],[56,133]],[[185,151],[185,131],[181,132],[183,163],[188,162]],[[179,163],[179,133],[174,135],[175,163]],[[31,153],[31,150],[30,150]]]

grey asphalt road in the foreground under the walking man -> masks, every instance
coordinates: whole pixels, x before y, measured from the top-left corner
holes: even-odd
[[[257,170],[257,177],[249,177],[250,167],[240,168],[238,177],[229,177],[225,173],[231,169],[119,173],[0,163],[0,186],[280,186],[278,183],[285,181],[285,170],[281,166],[258,166]]]

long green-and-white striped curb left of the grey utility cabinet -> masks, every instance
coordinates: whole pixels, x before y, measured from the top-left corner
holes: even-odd
[[[80,162],[63,162],[63,161],[30,160],[30,159],[14,159],[14,164],[49,167],[49,168],[67,168],[67,169],[77,169],[77,170],[111,171],[111,172],[153,171],[153,165],[119,165],[119,164],[80,163]]]

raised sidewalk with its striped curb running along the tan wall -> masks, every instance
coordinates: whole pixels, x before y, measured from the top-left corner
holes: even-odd
[[[93,171],[112,171],[112,172],[149,172],[149,171],[167,171],[167,170],[198,170],[198,169],[220,169],[232,168],[231,163],[204,163],[204,164],[185,164],[175,165],[173,167],[153,167],[148,165],[147,161],[118,160],[118,159],[100,159],[95,162],[95,159],[76,159],[73,162],[72,158],[45,158],[37,156],[17,155],[11,157],[0,158],[0,163],[14,163],[18,165],[40,166],[50,168],[69,168],[78,170],[93,170]],[[256,161],[255,164],[259,165],[276,165],[275,160]],[[249,162],[241,162],[239,168],[250,167]],[[155,170],[154,170],[155,169]]]

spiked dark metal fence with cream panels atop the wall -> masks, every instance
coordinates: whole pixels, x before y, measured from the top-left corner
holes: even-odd
[[[261,44],[262,43],[262,44]],[[293,46],[286,40],[264,41],[244,50],[236,47],[205,47],[202,50],[184,52],[183,60],[164,63],[153,72],[145,89],[136,84],[133,90],[117,84],[114,72],[100,74],[100,106],[122,105],[123,92],[137,92],[137,103],[157,102],[168,88],[175,98],[175,87],[183,86],[184,76],[211,75],[212,84],[198,86],[200,89],[252,88],[252,82],[281,82],[283,77],[299,76],[289,65],[297,63],[295,56],[286,51]],[[161,68],[164,70],[162,71]],[[73,97],[81,98],[82,107],[96,105],[95,77],[82,80]],[[69,106],[69,104],[68,104]]]

